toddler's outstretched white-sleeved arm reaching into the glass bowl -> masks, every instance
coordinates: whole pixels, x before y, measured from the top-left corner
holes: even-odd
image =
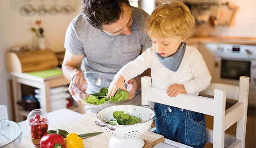
[[[124,67],[122,67],[119,72],[115,75],[114,80],[111,82],[108,88],[108,96],[110,94],[112,96],[115,95],[115,92],[120,88],[126,90],[124,87],[124,81],[128,81],[135,76],[143,73],[148,68],[151,68],[153,54],[155,54],[154,50],[149,48],[145,52],[143,52],[140,56],[138,56],[134,61],[127,63]]]

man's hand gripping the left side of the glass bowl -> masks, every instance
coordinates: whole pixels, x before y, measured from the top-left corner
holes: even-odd
[[[74,80],[73,80],[74,83],[72,82],[72,80],[70,81],[68,90],[69,90],[69,93],[71,93],[73,99],[80,104],[81,101],[76,98],[72,83],[74,84],[74,86],[79,88],[82,92],[85,92],[86,88],[87,88],[87,82],[84,79],[84,74],[81,73],[81,71],[79,71],[77,69],[74,69],[74,75],[75,75]],[[79,83],[76,83],[77,80],[78,80]]]

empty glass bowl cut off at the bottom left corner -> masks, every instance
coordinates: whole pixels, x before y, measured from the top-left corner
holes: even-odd
[[[0,119],[0,148],[18,148],[22,129],[16,122]]]

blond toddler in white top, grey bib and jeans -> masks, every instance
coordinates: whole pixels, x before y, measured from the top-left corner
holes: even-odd
[[[158,6],[147,22],[146,31],[152,39],[147,49],[129,62],[115,75],[109,86],[108,97],[118,89],[125,89],[124,82],[151,68],[152,86],[165,89],[170,97],[179,93],[199,95],[211,80],[209,70],[199,51],[186,45],[195,28],[189,8],[182,2]],[[204,114],[155,103],[156,133],[175,142],[194,148],[206,143]]]

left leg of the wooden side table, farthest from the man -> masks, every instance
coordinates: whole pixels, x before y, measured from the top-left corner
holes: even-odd
[[[15,121],[20,122],[20,114],[19,114],[19,109],[18,109],[18,104],[17,102],[21,99],[21,85],[17,81],[17,77],[12,78],[12,83],[13,83],[13,102],[14,102],[14,110],[15,110]]]

